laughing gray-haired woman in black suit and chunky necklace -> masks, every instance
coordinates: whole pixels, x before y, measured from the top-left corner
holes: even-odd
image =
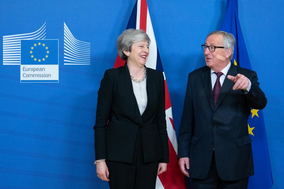
[[[155,188],[169,148],[162,72],[146,68],[150,38],[128,29],[117,38],[124,66],[106,70],[98,91],[96,172],[111,189]]]

